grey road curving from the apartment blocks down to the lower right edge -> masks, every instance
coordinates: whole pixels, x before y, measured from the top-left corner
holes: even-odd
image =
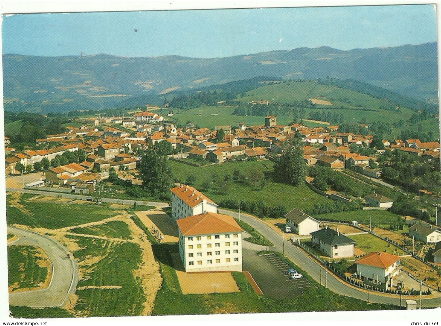
[[[236,212],[232,212],[230,210],[222,210],[219,209],[219,213],[232,215],[233,217],[239,217],[239,214]],[[310,258],[306,255],[299,247],[293,245],[291,242],[284,240],[280,234],[271,229],[268,225],[259,221],[254,217],[250,217],[245,214],[240,214],[240,218],[242,221],[249,224],[251,227],[260,232],[263,236],[265,236],[269,241],[274,244],[272,250],[283,252],[283,248],[285,249],[285,255],[291,259],[297,266],[301,269],[305,270],[311,277],[314,278],[317,282],[325,285],[325,268],[318,264],[314,259]],[[327,273],[327,286],[328,288],[341,294],[343,296],[350,296],[352,298],[365,300],[367,301],[367,292],[361,289],[353,288],[350,285],[341,282],[339,279],[333,276],[333,274]],[[424,308],[428,307],[441,307],[441,295],[437,293],[437,297],[422,299],[421,306]],[[403,306],[405,306],[405,296],[403,296]],[[412,298],[415,300],[415,298]],[[418,300],[417,300],[418,301]],[[380,304],[394,304],[396,306],[400,305],[400,297],[392,296],[392,295],[378,295],[372,292],[369,292],[369,302],[380,303]]]

